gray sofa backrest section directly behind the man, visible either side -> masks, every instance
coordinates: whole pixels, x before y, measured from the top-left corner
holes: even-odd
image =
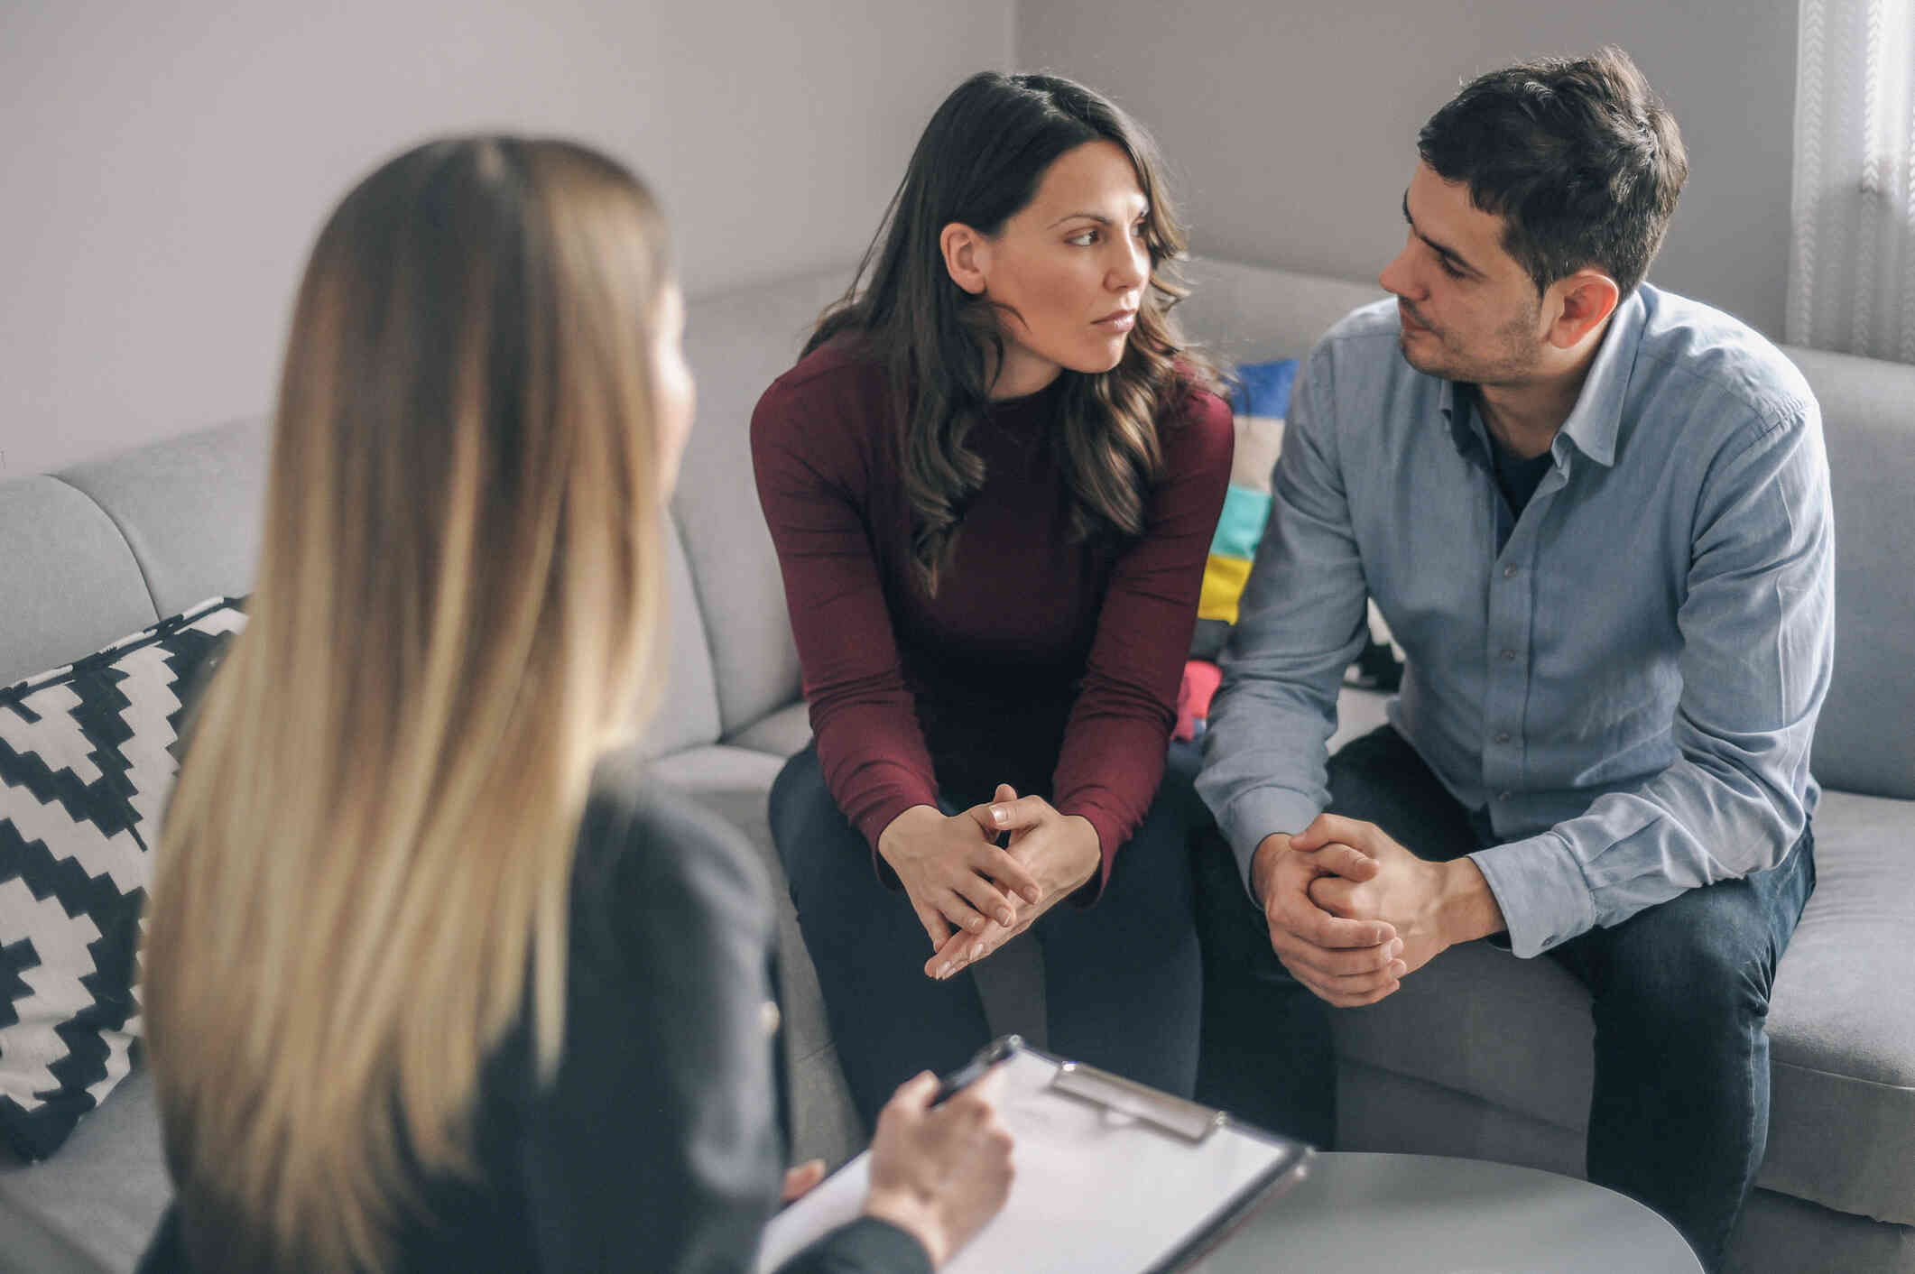
[[[1185,331],[1235,362],[1302,358],[1385,293],[1195,259]],[[1835,680],[1815,728],[1829,787],[1915,797],[1915,366],[1783,347],[1821,402],[1835,500]]]

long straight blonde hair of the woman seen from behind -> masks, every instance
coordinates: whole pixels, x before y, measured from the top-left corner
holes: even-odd
[[[379,1268],[523,1012],[557,1063],[573,841],[661,626],[665,284],[651,197],[561,142],[421,146],[320,234],[149,908],[195,1259]]]

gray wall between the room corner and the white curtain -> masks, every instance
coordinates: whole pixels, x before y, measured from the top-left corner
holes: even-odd
[[[1457,84],[1620,44],[1689,144],[1651,278],[1781,335],[1796,4],[1021,0],[1017,59],[1124,103],[1182,176],[1201,253],[1371,280],[1404,239],[1415,130]]]

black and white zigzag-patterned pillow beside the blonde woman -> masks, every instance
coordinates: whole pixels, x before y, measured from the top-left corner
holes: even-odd
[[[243,625],[214,598],[0,690],[0,1136],[29,1161],[132,1065],[147,851],[182,697]]]

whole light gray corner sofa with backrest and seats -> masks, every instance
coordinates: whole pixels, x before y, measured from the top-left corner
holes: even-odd
[[[1193,333],[1241,358],[1302,354],[1371,287],[1197,262]],[[808,736],[745,425],[843,272],[691,305],[699,427],[674,504],[674,634],[649,749],[663,782],[730,816],[776,872],[764,797]],[[1791,351],[1835,469],[1840,638],[1817,736],[1821,885],[1781,966],[1775,1115],[1739,1270],[1915,1274],[1915,368]],[[11,421],[10,427],[27,427]],[[257,421],[0,483],[0,684],[207,596],[245,592],[264,462]],[[1346,692],[1348,738],[1381,699]],[[1335,745],[1335,741],[1333,741]],[[789,906],[779,920],[797,1155],[864,1134]],[[1023,946],[1023,948],[1021,948]],[[1028,944],[980,966],[1000,1027],[1042,1038]],[[1339,1015],[1346,1148],[1582,1163],[1584,992],[1549,962],[1459,948],[1381,1006]],[[0,1270],[126,1270],[167,1182],[149,1077],[121,1084],[44,1165],[0,1151]]]

